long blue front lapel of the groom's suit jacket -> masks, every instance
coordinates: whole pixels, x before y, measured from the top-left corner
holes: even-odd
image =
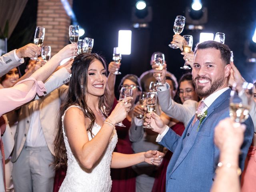
[[[211,106],[207,109],[207,116],[202,120],[202,123],[199,127],[198,131],[194,131],[193,134],[190,134],[188,140],[186,141],[186,145],[181,147],[180,150],[180,155],[178,156],[178,159],[176,161],[176,163],[174,164],[174,167],[172,169],[171,174],[174,172],[174,170],[176,170],[176,168],[180,165],[180,163],[184,160],[184,158],[187,156],[188,152],[190,151],[190,149],[192,148],[192,146],[194,145],[194,142],[196,141],[196,137],[198,135],[198,132],[200,132],[201,127],[204,125],[204,122],[207,120],[207,118],[212,114],[212,112],[214,112],[214,109],[217,108],[218,106],[220,106],[220,104],[222,104],[226,99],[229,99],[230,97],[230,89],[226,90],[224,93],[222,93],[212,104]],[[180,145],[183,144],[183,140],[186,137],[186,132],[188,130],[188,128],[190,128],[190,126],[192,126],[192,121],[194,119],[194,116],[191,118],[188,126],[186,127],[186,129],[184,130],[185,134],[182,134],[182,140],[180,140]],[[197,129],[199,125],[199,120],[196,121],[196,123],[193,126],[193,129]]]

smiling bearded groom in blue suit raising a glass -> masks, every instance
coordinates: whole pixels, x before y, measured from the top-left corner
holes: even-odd
[[[230,49],[224,44],[206,41],[196,46],[194,54],[192,78],[196,93],[202,98],[197,109],[200,120],[193,116],[180,137],[156,114],[151,119],[151,126],[159,133],[157,141],[174,153],[166,171],[167,192],[210,191],[219,159],[219,150],[213,141],[214,128],[220,120],[229,117]],[[157,72],[154,70],[154,73]],[[165,84],[164,79],[162,84]],[[164,91],[164,88],[161,87],[161,90]],[[148,119],[146,121],[149,122]],[[250,117],[245,124],[239,158],[242,170],[254,133]]]

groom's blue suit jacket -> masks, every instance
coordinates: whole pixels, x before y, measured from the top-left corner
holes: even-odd
[[[207,116],[198,131],[199,120],[192,126],[193,116],[181,137],[169,129],[159,142],[174,153],[166,172],[166,192],[210,191],[219,159],[219,150],[213,140],[214,128],[220,120],[229,117],[229,100],[230,89],[207,109]],[[239,158],[242,170],[254,134],[251,117],[245,124],[244,143]]]

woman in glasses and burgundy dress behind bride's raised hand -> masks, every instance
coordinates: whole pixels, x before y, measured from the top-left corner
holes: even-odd
[[[118,65],[120,66],[120,63],[117,64],[116,62],[110,62],[110,64],[108,65],[108,71],[110,73],[108,76],[108,86],[110,90],[112,109],[118,103],[114,95],[114,85],[115,85],[116,75],[113,74],[116,71],[116,68],[118,67]],[[126,127],[116,126],[118,142],[116,144],[116,148],[114,149],[114,152],[133,154],[134,152],[132,150],[132,143],[129,140],[128,131],[131,125],[132,117],[133,117],[134,105],[138,101],[138,96],[142,89],[140,86],[139,78],[134,74],[128,74],[122,78],[118,86],[118,90],[120,91],[122,87],[127,87],[132,89],[133,99],[130,101],[130,103],[132,104],[131,109],[128,112],[128,115],[126,116],[126,118],[122,121]],[[112,189],[111,189],[112,192],[120,192],[120,191],[135,192],[136,174],[131,167],[122,168],[122,169],[111,169],[111,178],[112,178]]]

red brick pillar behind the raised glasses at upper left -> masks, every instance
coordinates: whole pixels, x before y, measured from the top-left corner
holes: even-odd
[[[72,6],[73,0],[68,0]],[[45,28],[44,44],[52,48],[52,56],[69,44],[70,17],[60,0],[38,0],[37,26]]]

